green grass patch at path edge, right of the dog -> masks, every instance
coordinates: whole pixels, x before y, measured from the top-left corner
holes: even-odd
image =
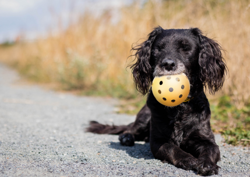
[[[220,132],[226,143],[250,145],[250,105],[237,108],[229,96],[222,96],[218,104],[211,104],[212,128]]]

